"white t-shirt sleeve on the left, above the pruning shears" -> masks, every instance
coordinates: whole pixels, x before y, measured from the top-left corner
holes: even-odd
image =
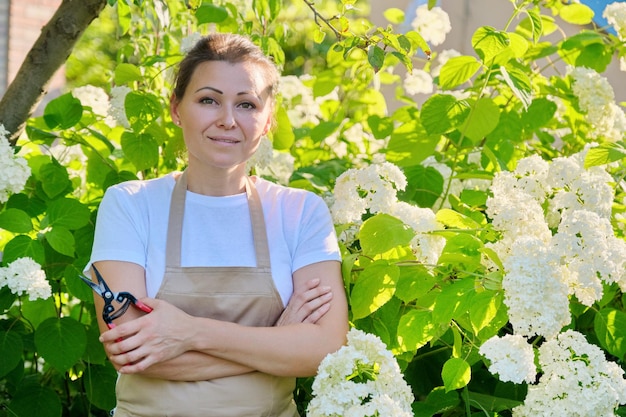
[[[96,218],[91,263],[126,261],[146,264],[146,216],[140,193],[127,187],[110,187],[104,194]]]

